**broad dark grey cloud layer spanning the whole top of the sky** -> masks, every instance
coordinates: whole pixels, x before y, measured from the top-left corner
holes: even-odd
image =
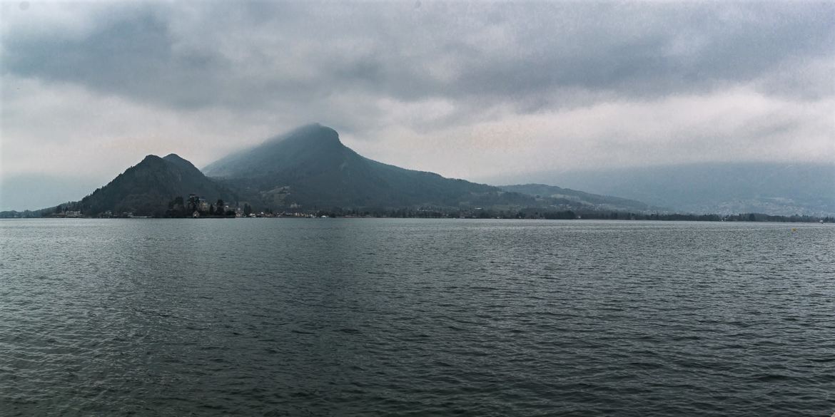
[[[83,38],[8,33],[3,71],[172,108],[335,91],[559,106],[555,89],[652,98],[751,82],[835,45],[835,3],[210,6],[105,14]]]

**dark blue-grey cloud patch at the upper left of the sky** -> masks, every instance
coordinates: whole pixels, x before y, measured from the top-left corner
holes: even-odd
[[[231,70],[216,55],[175,53],[167,23],[154,13],[130,13],[93,30],[83,38],[12,34],[3,41],[4,73],[188,108],[210,103],[220,74]]]

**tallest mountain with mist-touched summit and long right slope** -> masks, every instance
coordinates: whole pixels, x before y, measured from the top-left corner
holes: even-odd
[[[265,207],[303,208],[530,207],[535,198],[490,185],[443,178],[364,158],[339,134],[311,124],[204,168]],[[556,200],[550,203],[559,203]],[[563,202],[565,203],[565,202]]]

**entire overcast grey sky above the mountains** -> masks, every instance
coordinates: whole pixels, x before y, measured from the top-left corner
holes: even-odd
[[[3,1],[0,23],[0,209],[313,122],[475,181],[835,161],[832,1]]]

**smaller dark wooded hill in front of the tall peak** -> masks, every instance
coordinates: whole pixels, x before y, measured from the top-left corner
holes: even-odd
[[[146,156],[104,187],[84,197],[81,210],[86,215],[110,210],[114,214],[133,212],[159,216],[164,214],[172,199],[187,198],[190,193],[208,201],[236,199],[235,193],[228,188],[206,178],[192,163],[171,153],[164,158]]]

